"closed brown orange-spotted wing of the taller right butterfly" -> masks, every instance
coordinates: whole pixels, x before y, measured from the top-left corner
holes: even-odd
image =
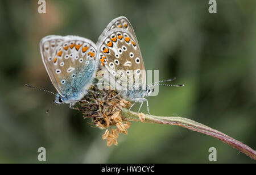
[[[123,16],[113,19],[98,39],[97,48],[97,59],[101,62],[101,68],[115,82],[119,83],[123,78],[128,80],[129,88],[134,87],[134,82],[146,87],[141,49],[129,20]],[[127,84],[121,86],[126,88]]]

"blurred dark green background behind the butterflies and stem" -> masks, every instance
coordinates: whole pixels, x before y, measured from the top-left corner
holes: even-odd
[[[68,105],[55,106],[39,42],[46,35],[79,35],[97,42],[106,25],[126,16],[137,34],[146,69],[160,80],[177,77],[148,98],[153,115],[184,116],[256,149],[256,1],[1,1],[0,163],[255,163],[236,149],[178,126],[135,123],[118,146],[107,147],[104,130]],[[138,109],[138,105],[134,110]],[[143,106],[146,113],[146,105]]]

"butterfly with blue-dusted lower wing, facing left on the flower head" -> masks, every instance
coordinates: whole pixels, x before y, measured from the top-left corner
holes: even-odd
[[[97,47],[79,36],[49,35],[40,41],[43,64],[57,94],[55,103],[80,101],[92,85],[97,70]]]

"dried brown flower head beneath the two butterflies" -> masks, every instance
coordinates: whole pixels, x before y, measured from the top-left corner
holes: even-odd
[[[127,135],[127,129],[131,123],[122,116],[122,109],[131,106],[129,101],[122,99],[118,93],[110,87],[100,90],[97,87],[90,87],[88,94],[77,103],[76,110],[82,112],[84,118],[92,118],[94,126],[105,129],[102,139],[107,141],[107,145],[117,145],[118,135]],[[110,132],[109,127],[116,126]]]

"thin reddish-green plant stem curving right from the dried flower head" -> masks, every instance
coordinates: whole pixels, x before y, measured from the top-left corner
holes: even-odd
[[[133,111],[128,111],[127,109],[123,109],[122,114],[127,120],[141,122],[139,118],[139,113],[135,113]],[[184,128],[188,128],[189,130],[192,130],[192,131],[201,132],[203,134],[212,136],[213,138],[221,140],[224,143],[229,144],[233,148],[238,149],[242,153],[245,153],[245,155],[251,157],[251,159],[256,160],[256,151],[254,149],[248,147],[247,145],[241,143],[236,139],[231,138],[228,135],[223,134],[220,131],[217,131],[217,130],[214,130],[213,128],[205,126],[204,124],[201,124],[191,119],[183,118],[180,116],[154,116],[154,115],[148,115],[148,114],[142,114],[142,115],[145,116],[144,122],[147,122],[147,123],[177,125]]]

